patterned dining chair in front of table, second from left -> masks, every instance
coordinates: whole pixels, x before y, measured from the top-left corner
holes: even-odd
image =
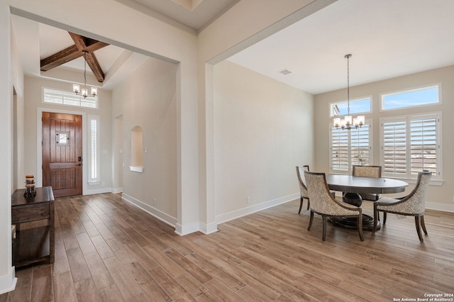
[[[307,191],[309,193],[309,200],[311,201],[311,218],[307,230],[311,230],[314,213],[321,215],[323,220],[323,235],[321,240],[325,241],[326,219],[328,217],[354,217],[358,218],[358,235],[360,236],[360,240],[364,241],[362,237],[362,209],[333,198],[328,189],[328,184],[326,184],[325,173],[306,171],[304,172],[304,176],[306,177]]]

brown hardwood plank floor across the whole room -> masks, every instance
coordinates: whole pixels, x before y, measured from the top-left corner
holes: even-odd
[[[180,237],[118,195],[55,201],[55,264],[16,270],[4,301],[397,301],[454,293],[454,214],[388,215],[375,235],[307,231],[299,200]],[[363,203],[372,213],[372,203]],[[448,298],[453,298],[452,296]],[[415,300],[416,301],[416,300]],[[450,300],[452,301],[452,300]]]

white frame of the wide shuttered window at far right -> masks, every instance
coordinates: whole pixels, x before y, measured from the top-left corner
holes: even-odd
[[[436,123],[436,142],[435,142],[435,148],[436,148],[436,173],[432,175],[431,180],[432,181],[443,181],[443,154],[442,150],[443,147],[441,145],[441,138],[442,138],[442,118],[441,118],[441,112],[431,112],[431,113],[425,113],[425,114],[409,114],[405,116],[392,116],[392,117],[383,117],[380,118],[380,164],[382,165],[382,175],[383,177],[392,177],[392,178],[398,178],[398,179],[417,179],[418,174],[412,173],[412,167],[411,167],[411,137],[412,137],[412,128],[411,128],[411,121],[423,121],[424,119],[435,119]],[[400,122],[400,123],[405,123],[405,151],[404,154],[406,155],[405,157],[405,173],[392,173],[392,172],[387,172],[386,167],[385,167],[385,142],[384,142],[384,124],[385,123],[395,123],[395,122]],[[430,127],[430,126],[429,126]],[[414,130],[414,128],[413,128]],[[414,130],[416,131],[416,130]],[[401,133],[402,136],[402,133]],[[402,140],[401,140],[402,141]],[[408,156],[410,155],[410,156]],[[424,167],[423,167],[424,169]]]

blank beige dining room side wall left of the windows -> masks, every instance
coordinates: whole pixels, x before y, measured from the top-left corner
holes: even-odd
[[[228,61],[214,86],[217,222],[299,198],[295,166],[314,163],[313,96]]]

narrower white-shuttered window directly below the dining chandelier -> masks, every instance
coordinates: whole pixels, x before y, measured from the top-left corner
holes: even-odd
[[[353,164],[370,164],[372,133],[370,121],[360,128],[342,130],[331,125],[331,172],[350,173]]]

